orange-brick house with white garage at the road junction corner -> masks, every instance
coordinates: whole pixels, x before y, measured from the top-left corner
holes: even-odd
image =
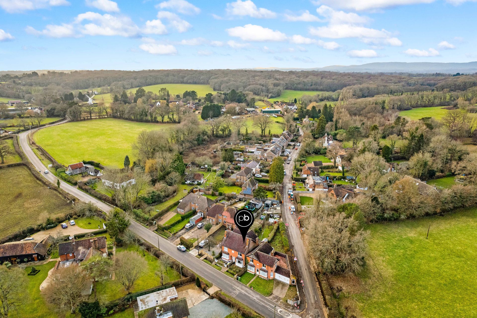
[[[253,252],[247,254],[247,271],[264,279],[278,279],[295,285],[296,275],[290,270],[287,254],[276,252],[268,242],[263,242]]]

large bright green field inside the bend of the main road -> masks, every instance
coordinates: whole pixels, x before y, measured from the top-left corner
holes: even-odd
[[[135,160],[131,144],[142,130],[167,131],[175,124],[139,123],[102,118],[46,127],[33,135],[54,159],[64,165],[94,160],[104,166],[122,167],[124,156]]]

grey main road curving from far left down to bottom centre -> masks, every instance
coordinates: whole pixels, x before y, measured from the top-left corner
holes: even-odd
[[[59,125],[63,124],[66,121],[62,121],[60,123],[54,124]],[[36,128],[32,131],[36,131],[41,128]],[[27,158],[31,161],[33,166],[41,171],[41,175],[56,184],[56,176],[52,173],[44,173],[43,171],[47,168],[41,163],[40,159],[34,154],[33,150],[31,150],[29,145],[28,134],[29,131],[22,132],[19,135],[20,139],[20,146],[27,156]],[[60,140],[58,142],[61,142]],[[100,201],[89,194],[69,185],[66,182],[60,180],[60,188],[68,193],[74,195],[81,201],[84,202],[92,202],[98,208],[103,210],[104,212],[109,212],[111,210],[111,206]],[[183,264],[184,266],[190,268],[192,271],[197,273],[197,275],[204,277],[209,282],[218,286],[221,290],[226,292],[228,295],[234,297],[241,303],[247,305],[251,309],[255,310],[259,314],[263,315],[264,317],[272,318],[272,317],[282,317],[282,318],[299,318],[300,316],[290,313],[289,311],[280,307],[279,304],[273,302],[272,300],[268,299],[267,297],[262,296],[258,292],[250,289],[246,285],[240,283],[239,281],[228,277],[227,275],[221,273],[217,269],[213,268],[212,266],[206,265],[204,262],[199,260],[197,257],[184,252],[179,252],[176,248],[176,245],[170,243],[163,237],[157,235],[156,233],[149,231],[144,226],[139,223],[136,223],[134,220],[131,220],[130,230],[132,230],[136,235],[141,237],[143,240],[149,242],[150,244],[160,247],[160,250],[165,252],[166,254],[170,255],[178,262]],[[160,246],[158,246],[160,244]],[[308,317],[308,316],[307,316]]]

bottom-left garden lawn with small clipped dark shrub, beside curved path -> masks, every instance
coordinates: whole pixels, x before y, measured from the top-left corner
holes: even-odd
[[[9,317],[11,318],[57,318],[52,308],[44,300],[40,292],[40,285],[48,276],[48,271],[53,268],[56,262],[48,262],[44,265],[35,265],[36,269],[40,272],[36,275],[27,276],[31,271],[31,266],[25,268],[25,276],[28,280],[28,285],[24,286],[25,298],[28,299],[28,306],[22,304],[18,312],[12,312]]]

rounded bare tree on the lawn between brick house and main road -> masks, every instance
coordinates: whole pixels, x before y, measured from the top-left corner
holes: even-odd
[[[147,262],[144,258],[132,251],[116,254],[114,259],[114,273],[117,281],[129,291],[135,281],[144,273]]]

